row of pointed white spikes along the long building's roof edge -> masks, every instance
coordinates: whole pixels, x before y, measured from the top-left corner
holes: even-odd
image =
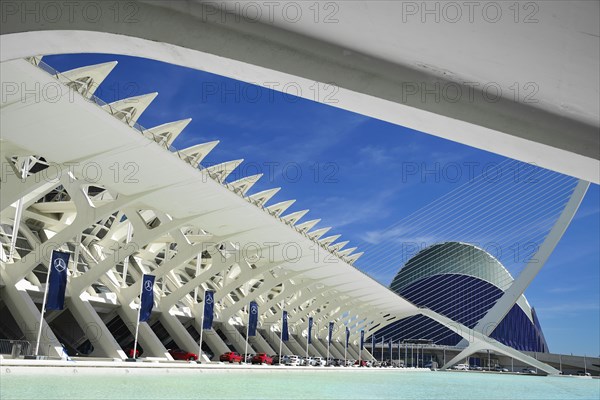
[[[39,58],[30,60],[35,64],[40,63]],[[148,108],[152,101],[156,98],[158,93],[148,93],[140,96],[128,97],[114,101],[112,103],[103,103],[101,100],[94,96],[99,85],[104,81],[108,74],[117,65],[117,62],[108,62],[103,64],[96,64],[76,68],[70,71],[60,73],[57,76],[63,83],[72,87],[83,96],[95,102],[100,102],[100,106],[106,111],[110,112],[113,116],[122,119],[125,123],[130,126],[136,126],[137,120],[142,113]],[[263,174],[251,175],[233,182],[226,183],[227,177],[244,161],[244,160],[233,160],[227,161],[221,164],[213,165],[210,167],[203,168],[200,163],[202,160],[219,144],[219,141],[212,141],[208,143],[201,143],[183,150],[172,149],[172,144],[179,134],[187,127],[192,121],[191,118],[183,119],[180,121],[168,122],[151,129],[143,129],[145,135],[150,135],[152,138],[170,149],[178,153],[179,157],[184,161],[188,162],[194,168],[204,169],[213,179],[219,183],[225,185],[233,192],[238,193],[240,196],[246,198],[249,202],[256,206],[264,209],[269,214],[279,218],[284,223],[290,225],[298,232],[302,233],[309,239],[319,243],[323,248],[330,252],[337,254],[344,261],[353,264],[363,253],[353,253],[356,247],[347,248],[342,250],[348,241],[337,242],[333,244],[341,235],[332,235],[322,238],[331,227],[319,228],[311,231],[321,220],[313,219],[298,224],[298,221],[304,217],[309,210],[296,211],[291,214],[282,216],[282,214],[296,202],[296,200],[286,200],[270,206],[265,204],[277,193],[281,188],[273,188],[263,190],[258,193],[247,196],[247,192],[258,182]],[[139,126],[138,126],[139,127]],[[141,128],[141,127],[139,127]]]

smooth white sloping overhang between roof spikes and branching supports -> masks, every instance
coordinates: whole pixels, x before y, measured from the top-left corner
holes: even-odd
[[[4,63],[1,74],[3,82],[23,82],[23,87],[35,82],[52,84],[54,79],[25,60]],[[263,261],[300,271],[303,278],[371,305],[374,313],[418,312],[414,305],[333,255],[328,246],[287,224],[285,217],[271,215],[264,205],[257,206],[231,185],[213,179],[208,169],[184,161],[84,97],[65,95],[54,102],[5,104],[2,146],[5,155],[41,155],[52,163],[69,164],[70,171],[81,179],[88,165],[106,172],[115,163],[134,161],[134,180],[101,173],[94,175],[93,184],[135,198],[129,207],[157,210],[197,225],[217,242],[227,238],[239,249],[268,249],[260,254]]]

